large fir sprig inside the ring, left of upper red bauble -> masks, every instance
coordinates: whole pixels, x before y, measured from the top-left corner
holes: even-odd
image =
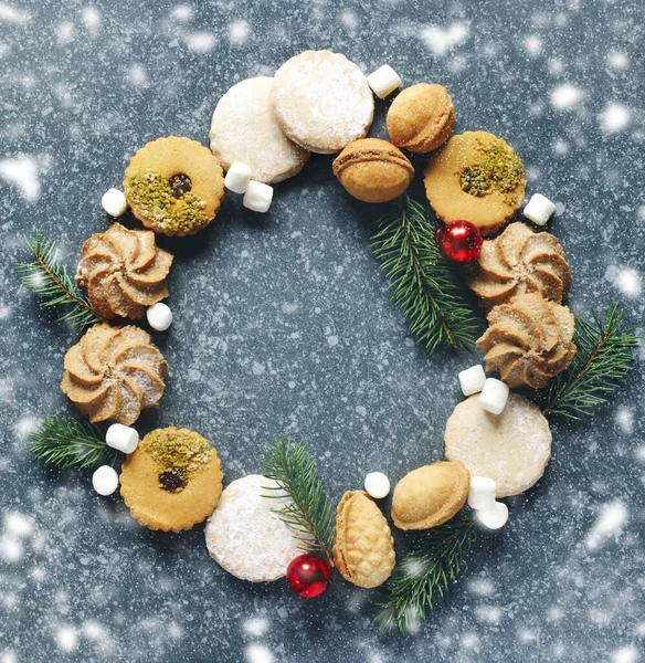
[[[392,301],[430,355],[440,345],[473,347],[476,318],[452,280],[421,204],[409,197],[395,203],[379,221],[372,251],[391,282]]]

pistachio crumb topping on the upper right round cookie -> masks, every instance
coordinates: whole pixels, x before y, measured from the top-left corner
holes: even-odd
[[[470,196],[486,196],[493,191],[509,194],[525,180],[526,172],[520,158],[501,138],[493,143],[479,141],[482,159],[465,168],[461,175],[462,190]],[[509,202],[515,202],[508,196]]]

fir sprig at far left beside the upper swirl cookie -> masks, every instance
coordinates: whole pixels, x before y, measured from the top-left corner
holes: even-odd
[[[22,284],[36,297],[43,308],[65,307],[60,320],[71,320],[81,328],[104,322],[87,298],[74,285],[64,265],[56,260],[56,244],[36,230],[33,236],[24,238],[34,260],[14,266]]]

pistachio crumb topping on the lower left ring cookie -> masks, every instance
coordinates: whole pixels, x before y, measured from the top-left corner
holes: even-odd
[[[189,480],[210,461],[210,444],[186,429],[159,429],[146,435],[146,450],[159,464],[159,487],[183,491]],[[175,481],[169,482],[171,477]]]

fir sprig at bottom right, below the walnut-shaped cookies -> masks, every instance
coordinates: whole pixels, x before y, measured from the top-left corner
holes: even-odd
[[[376,619],[381,630],[414,632],[436,601],[446,597],[450,583],[456,582],[464,552],[476,537],[473,518],[465,515],[429,529],[383,586],[382,610]]]

